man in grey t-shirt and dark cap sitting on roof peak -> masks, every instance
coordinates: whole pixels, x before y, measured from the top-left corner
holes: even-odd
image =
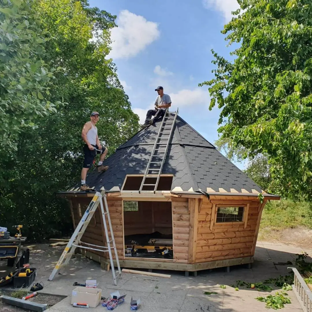
[[[155,101],[155,109],[147,111],[145,122],[141,125],[142,127],[154,124],[156,120],[165,115],[166,109],[171,106],[170,96],[163,93],[163,87],[161,85],[159,85],[155,91],[158,93]],[[152,119],[152,116],[154,116],[154,119]]]

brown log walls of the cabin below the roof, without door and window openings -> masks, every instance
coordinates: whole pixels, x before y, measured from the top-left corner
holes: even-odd
[[[82,194],[81,194],[82,195]],[[154,196],[153,196],[154,195]],[[197,194],[176,195],[169,192],[156,194],[137,194],[136,192],[107,193],[107,203],[115,236],[119,263],[124,268],[147,270],[176,270],[185,272],[214,269],[230,266],[247,265],[251,267],[260,226],[261,213],[266,204],[259,202],[256,196],[210,197]],[[70,202],[71,217],[74,227],[80,221],[80,214],[90,203],[90,194],[85,196],[66,196]],[[124,211],[123,201],[171,202],[173,259],[125,257],[124,250]],[[244,205],[243,222],[226,222],[215,225],[212,220],[216,215],[217,205]],[[95,213],[94,220],[87,227],[81,244],[96,243],[105,246],[104,225]],[[78,249],[80,253],[101,264],[109,270],[109,259],[103,252]],[[113,259],[115,257],[113,256]],[[115,265],[114,260],[114,265]],[[187,274],[187,273],[186,273]]]

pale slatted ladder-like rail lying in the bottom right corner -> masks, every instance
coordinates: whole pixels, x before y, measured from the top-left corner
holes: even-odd
[[[296,268],[289,267],[295,273],[292,288],[305,312],[312,312],[312,292]]]

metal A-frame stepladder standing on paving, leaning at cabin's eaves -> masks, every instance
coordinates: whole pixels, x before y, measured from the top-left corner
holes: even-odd
[[[104,207],[103,207],[103,199],[105,202],[105,211],[104,211]],[[105,228],[107,247],[106,246],[93,245],[93,244],[89,244],[89,243],[85,243],[85,242],[83,242],[83,244],[86,244],[86,245],[89,245],[92,247],[81,246],[81,245],[79,245],[80,239],[83,236],[85,229],[87,228],[88,224],[90,223],[91,218],[93,217],[93,215],[96,211],[96,208],[99,206],[99,204],[100,204],[100,209],[101,209],[101,217],[103,219],[104,228]],[[109,236],[108,236],[106,217],[107,217],[108,224],[110,227],[111,240],[109,239]],[[111,243],[113,246],[110,246]],[[94,247],[96,247],[96,248],[94,248]],[[66,245],[60,259],[57,261],[55,268],[53,269],[50,277],[48,278],[48,281],[53,280],[56,273],[62,274],[59,271],[64,269],[64,267],[71,260],[71,257],[75,254],[76,248],[84,248],[84,249],[103,251],[103,252],[108,251],[109,256],[110,256],[110,266],[111,266],[112,273],[113,273],[114,284],[117,285],[116,278],[119,276],[119,278],[121,279],[122,276],[121,276],[119,259],[118,259],[118,254],[117,254],[117,250],[116,250],[116,245],[115,245],[114,233],[113,233],[112,225],[110,222],[110,213],[108,210],[105,191],[102,191],[101,193],[96,192],[95,195],[93,196],[89,206],[87,207],[84,215],[82,216],[79,224],[77,225],[75,232],[71,236],[71,239],[68,241],[68,244]],[[101,248],[101,249],[99,249],[99,248]],[[117,267],[118,267],[118,274],[117,275],[115,274],[115,268],[114,268],[113,257],[112,257],[112,249],[114,249]],[[64,263],[63,263],[63,261],[64,261]]]

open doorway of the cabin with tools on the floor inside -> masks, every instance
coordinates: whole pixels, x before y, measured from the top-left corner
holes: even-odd
[[[125,257],[173,259],[171,202],[123,201]]]

